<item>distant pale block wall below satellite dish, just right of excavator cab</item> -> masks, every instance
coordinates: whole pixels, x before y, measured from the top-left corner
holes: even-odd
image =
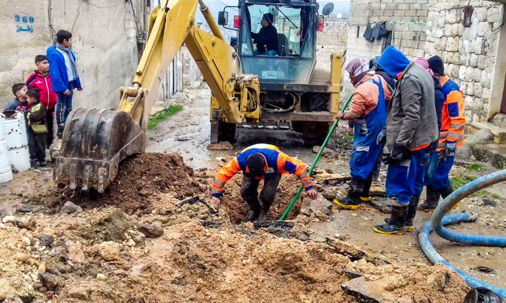
[[[323,31],[316,38],[316,67],[330,70],[330,55],[346,49],[350,24],[348,19],[325,18]]]

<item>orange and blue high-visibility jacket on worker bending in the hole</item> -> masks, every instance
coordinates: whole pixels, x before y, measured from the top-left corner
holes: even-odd
[[[223,186],[235,174],[242,170],[247,173],[246,160],[253,154],[261,154],[265,157],[265,175],[259,179],[269,179],[275,174],[294,174],[301,180],[306,190],[313,189],[313,182],[306,171],[306,167],[300,161],[288,157],[278,147],[270,144],[255,144],[243,149],[237,157],[222,167],[211,184],[214,197],[221,197]]]

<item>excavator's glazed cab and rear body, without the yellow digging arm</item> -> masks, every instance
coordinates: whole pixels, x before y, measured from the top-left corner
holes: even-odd
[[[328,15],[332,9],[330,4],[323,12]],[[235,11],[232,28],[228,25],[228,12]],[[339,54],[332,54],[331,70],[317,68],[317,32],[324,26],[324,16],[318,11],[315,0],[239,0],[237,7],[225,7],[218,18],[224,28],[235,29],[231,40],[242,72],[258,75],[262,114],[260,123],[251,126],[301,132],[304,142],[310,146],[321,144],[325,138],[329,124],[339,111],[341,90]],[[265,32],[261,31],[266,26],[262,21],[264,14],[273,16],[275,43],[258,39]],[[259,40],[262,40],[260,45],[256,43]],[[266,46],[268,52],[265,52]],[[217,109],[212,106],[212,110]],[[231,136],[219,134],[217,137]]]

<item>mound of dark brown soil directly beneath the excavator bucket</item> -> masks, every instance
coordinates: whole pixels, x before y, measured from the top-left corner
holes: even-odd
[[[171,192],[181,199],[205,191],[207,184],[193,178],[193,169],[186,166],[178,154],[140,154],[124,160],[116,179],[103,194],[56,189],[40,200],[48,206],[72,201],[83,208],[114,205],[133,214],[148,212],[160,193]]]

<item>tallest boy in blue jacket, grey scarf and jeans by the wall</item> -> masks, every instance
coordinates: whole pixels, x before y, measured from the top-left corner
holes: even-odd
[[[82,90],[77,72],[75,54],[70,49],[72,46],[72,34],[66,30],[56,33],[55,46],[48,48],[46,53],[49,61],[49,73],[53,84],[53,90],[57,93],[56,101],[56,135],[61,138],[68,114],[72,111],[72,96],[74,88]]]

